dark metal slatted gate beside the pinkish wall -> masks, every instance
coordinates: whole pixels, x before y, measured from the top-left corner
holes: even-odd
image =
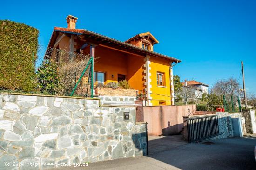
[[[218,116],[201,116],[187,118],[188,141],[195,142],[219,134]]]

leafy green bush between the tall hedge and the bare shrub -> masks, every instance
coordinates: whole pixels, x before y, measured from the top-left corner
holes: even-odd
[[[56,94],[58,87],[58,69],[56,63],[51,60],[45,60],[37,69],[37,78],[42,93]]]

